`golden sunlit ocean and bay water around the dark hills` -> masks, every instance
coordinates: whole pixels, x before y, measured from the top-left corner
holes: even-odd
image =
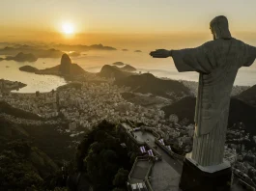
[[[20,71],[18,68],[30,65],[35,68],[51,68],[60,64],[58,59],[38,59],[35,63],[17,63],[14,61],[0,62],[0,78],[20,81],[27,84],[27,87],[20,89],[20,93],[35,93],[36,91],[48,92],[67,82],[58,76],[37,75]],[[114,62],[129,64],[138,71],[151,72],[158,77],[171,79],[184,79],[198,81],[197,72],[178,72],[172,58],[156,59],[149,55],[149,51],[88,51],[83,52],[79,57],[71,57],[72,63],[76,63],[90,72],[99,72],[104,65],[111,65]],[[250,68],[241,68],[237,75],[235,85],[252,86],[256,84],[256,64]],[[15,92],[15,91],[14,91]]]

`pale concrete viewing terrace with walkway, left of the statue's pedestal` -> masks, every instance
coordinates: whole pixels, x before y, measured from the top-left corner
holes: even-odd
[[[141,144],[154,148],[155,154],[161,158],[155,162],[150,161],[148,157],[137,157],[129,174],[129,184],[145,183],[146,190],[149,191],[182,191],[179,188],[180,177],[183,170],[182,158],[177,158],[170,154],[164,146],[160,145],[153,133],[146,130],[132,131],[132,127],[128,123],[122,123],[128,131],[128,135],[132,136]],[[132,132],[132,133],[131,133]],[[189,182],[187,182],[189,183]],[[236,179],[233,181],[231,191],[244,190]]]

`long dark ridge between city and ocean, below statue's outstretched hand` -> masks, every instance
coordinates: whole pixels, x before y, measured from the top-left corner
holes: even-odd
[[[151,73],[131,75],[124,79],[116,80],[115,84],[130,87],[132,92],[142,94],[150,93],[172,99],[190,95],[189,89],[183,83],[175,80],[159,79]]]

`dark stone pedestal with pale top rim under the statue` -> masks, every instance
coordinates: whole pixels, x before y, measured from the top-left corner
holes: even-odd
[[[229,191],[232,170],[229,162],[202,167],[186,155],[180,188],[183,191]]]

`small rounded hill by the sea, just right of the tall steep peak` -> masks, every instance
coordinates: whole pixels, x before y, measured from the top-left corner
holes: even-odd
[[[105,78],[113,78],[114,77],[115,79],[121,79],[121,78],[131,75],[131,73],[129,73],[127,71],[122,71],[118,67],[110,66],[110,65],[104,65],[101,68],[100,73],[98,73],[98,74],[101,77],[105,77]]]

